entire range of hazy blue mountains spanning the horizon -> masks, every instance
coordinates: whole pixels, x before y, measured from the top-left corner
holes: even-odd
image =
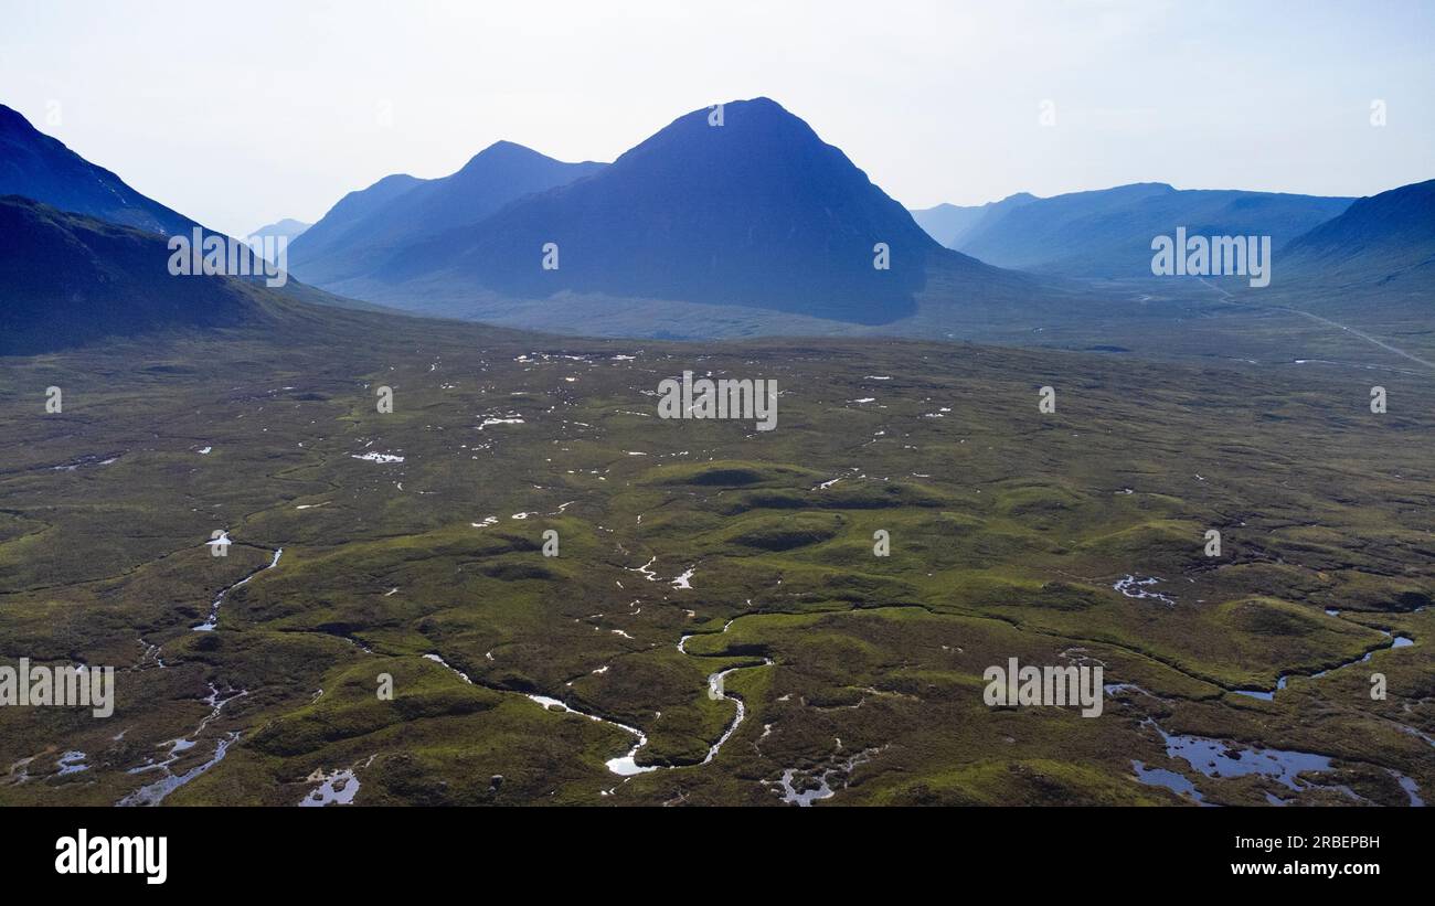
[[[1435,282],[1435,181],[1353,204],[1137,183],[938,205],[914,219],[765,97],[723,105],[720,120],[693,110],[611,165],[498,142],[442,179],[387,176],[309,229],[280,221],[255,231],[291,238],[293,278],[273,291],[243,278],[171,278],[164,237],[198,224],[9,108],[0,108],[0,186],[16,195],[0,216],[0,348],[9,351],[220,327],[281,301],[366,305],[293,278],[420,314],[548,331],[1025,343],[1177,317],[1135,292],[1066,280],[1149,277],[1152,237],[1177,226],[1271,235],[1273,285],[1294,287],[1281,300],[1292,305],[1319,297],[1332,311],[1370,300],[1396,307],[1398,297],[1408,318]]]

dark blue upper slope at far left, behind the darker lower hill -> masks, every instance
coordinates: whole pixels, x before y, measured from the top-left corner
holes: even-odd
[[[23,195],[60,211],[165,235],[185,234],[197,225],[39,132],[4,105],[0,105],[0,195]]]

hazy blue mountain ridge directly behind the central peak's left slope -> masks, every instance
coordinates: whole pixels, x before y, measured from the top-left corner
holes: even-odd
[[[290,247],[304,280],[331,284],[359,277],[396,248],[475,224],[508,202],[598,172],[594,162],[564,163],[512,142],[489,145],[442,179],[386,176],[350,192]]]

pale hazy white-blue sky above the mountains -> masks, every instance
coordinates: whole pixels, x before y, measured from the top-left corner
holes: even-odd
[[[240,234],[498,139],[611,161],[758,95],[908,206],[1138,181],[1369,195],[1435,178],[1432,49],[1419,0],[0,0],[0,103]]]

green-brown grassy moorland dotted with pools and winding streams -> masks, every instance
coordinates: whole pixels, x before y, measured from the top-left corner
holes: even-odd
[[[778,429],[659,420],[684,368],[775,378]],[[1188,801],[1141,763],[1205,801],[1405,804],[1435,790],[1428,393],[1401,370],[346,311],[0,360],[0,662],[118,685],[106,720],[0,708],[0,803],[168,776],[165,804],[297,804],[346,770],[356,804],[779,804],[784,777],[828,804]],[[1141,691],[1096,718],[989,708],[1010,657]],[[732,697],[745,720],[702,764]],[[608,770],[636,743],[614,724],[664,770]],[[1207,776],[1162,733],[1330,761]]]

